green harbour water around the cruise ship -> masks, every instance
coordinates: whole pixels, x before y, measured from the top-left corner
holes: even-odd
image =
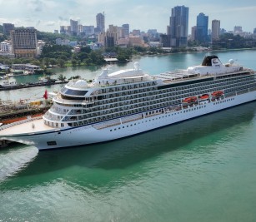
[[[203,55],[137,60],[157,74]],[[253,69],[255,55],[218,53]],[[255,109],[251,102],[99,145],[38,152],[13,144],[0,150],[0,221],[255,221]]]

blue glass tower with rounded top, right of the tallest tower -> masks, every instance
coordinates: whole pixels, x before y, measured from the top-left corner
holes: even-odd
[[[208,16],[204,15],[203,12],[199,13],[197,17],[196,40],[199,42],[208,41]]]

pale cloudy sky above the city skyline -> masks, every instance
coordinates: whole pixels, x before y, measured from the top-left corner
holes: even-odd
[[[255,0],[0,0],[0,24],[53,32],[61,25],[69,25],[70,19],[96,27],[96,14],[104,12],[106,27],[128,23],[130,30],[157,29],[166,33],[171,9],[182,5],[189,7],[189,33],[200,12],[208,16],[208,28],[213,19],[220,20],[220,27],[227,31],[241,26],[243,32],[253,32],[256,27]]]

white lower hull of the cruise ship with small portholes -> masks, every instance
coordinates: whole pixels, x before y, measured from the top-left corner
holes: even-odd
[[[3,139],[36,146],[39,150],[81,146],[133,136],[158,127],[168,126],[179,121],[186,121],[194,117],[203,116],[214,111],[221,111],[254,100],[256,100],[256,91],[251,91],[218,101],[203,101],[197,106],[191,106],[179,111],[164,112],[150,117],[147,116],[136,121],[120,123],[119,125],[103,129],[96,129],[93,126],[79,126],[61,131],[48,131],[38,135],[6,136]],[[47,141],[50,142],[49,145],[47,145]]]

